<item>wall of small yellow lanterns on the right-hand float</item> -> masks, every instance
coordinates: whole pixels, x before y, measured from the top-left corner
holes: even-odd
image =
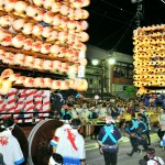
[[[165,86],[165,24],[139,28],[133,40],[133,84],[141,96],[148,87]]]

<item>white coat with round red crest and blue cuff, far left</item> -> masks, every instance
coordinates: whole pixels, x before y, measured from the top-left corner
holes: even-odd
[[[0,153],[3,155],[7,165],[15,165],[24,162],[24,157],[18,140],[11,131],[0,132]]]

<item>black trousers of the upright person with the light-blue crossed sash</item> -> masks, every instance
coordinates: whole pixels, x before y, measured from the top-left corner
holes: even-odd
[[[105,165],[117,165],[118,153],[110,153],[103,151]]]

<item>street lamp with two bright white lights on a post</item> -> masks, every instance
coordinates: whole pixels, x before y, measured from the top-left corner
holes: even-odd
[[[106,74],[105,74],[105,70],[106,70],[106,64],[108,64],[111,66],[116,63],[116,59],[113,56],[108,56],[107,58],[105,59],[100,59],[100,58],[94,58],[91,61],[91,64],[97,66],[97,65],[101,65],[101,100],[103,100],[103,89],[105,89],[105,80],[106,80]],[[110,73],[112,74],[112,70],[110,68]],[[110,74],[110,85],[111,85],[111,74]],[[110,86],[110,89],[111,89],[111,86]]]

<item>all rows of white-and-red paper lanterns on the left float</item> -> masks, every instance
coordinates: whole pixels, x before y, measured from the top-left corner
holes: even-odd
[[[82,8],[89,3],[90,0],[1,0],[0,61],[11,67],[52,74],[72,72],[72,77],[66,80],[18,74],[11,74],[6,80],[24,87],[87,90],[86,79],[76,75],[79,67],[87,65],[85,42],[89,35],[85,31],[89,12]],[[1,86],[3,80],[1,78]]]

